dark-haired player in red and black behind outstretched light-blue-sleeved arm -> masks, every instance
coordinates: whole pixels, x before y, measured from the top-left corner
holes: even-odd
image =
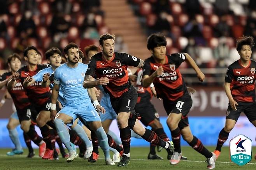
[[[49,67],[48,65],[37,64],[37,52],[38,50],[34,46],[26,47],[26,49],[23,52],[23,55],[28,65],[22,67],[16,73],[14,73],[14,75],[12,76],[12,80],[8,83],[7,86],[13,88],[17,84],[16,80],[19,80],[20,83],[23,85],[23,88],[28,96],[28,99],[31,102],[32,108],[35,109],[36,114],[38,114],[38,116],[33,114],[31,116],[35,118],[37,116],[37,125],[39,126],[43,139],[46,142],[46,151],[42,158],[58,160],[58,153],[55,150],[54,134],[51,134],[49,128],[46,125],[46,122],[50,120],[50,88],[41,87],[41,82],[36,82],[28,86],[28,80],[31,79],[31,76],[35,75],[41,69]],[[26,127],[30,126],[29,123],[26,124]]]

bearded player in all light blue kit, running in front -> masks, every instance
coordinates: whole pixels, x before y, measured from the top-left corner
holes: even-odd
[[[64,53],[68,62],[58,67],[54,72],[54,87],[51,97],[51,118],[54,120],[56,116],[54,124],[61,141],[69,151],[67,162],[74,161],[79,156],[72,145],[70,145],[70,137],[65,124],[73,123],[80,117],[98,136],[100,146],[105,154],[106,165],[115,165],[109,156],[107,135],[102,128],[100,117],[93,107],[90,98],[94,101],[98,111],[104,112],[105,110],[97,102],[94,90],[85,90],[82,87],[82,77],[84,77],[84,71],[87,70],[88,66],[79,63],[79,51],[78,46],[75,43],[69,43],[64,48]],[[57,114],[56,102],[60,87],[63,92],[65,105]],[[91,146],[91,144],[88,143],[86,146]],[[92,149],[92,146],[87,147],[85,157],[89,158]]]

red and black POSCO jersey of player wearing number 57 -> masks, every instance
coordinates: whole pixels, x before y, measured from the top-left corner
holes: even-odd
[[[143,76],[150,76],[160,66],[162,66],[164,70],[163,73],[157,76],[153,81],[157,97],[176,101],[183,95],[188,94],[186,84],[179,71],[179,66],[185,60],[186,55],[183,53],[165,56],[165,64],[156,63],[153,56],[146,59],[144,62]]]

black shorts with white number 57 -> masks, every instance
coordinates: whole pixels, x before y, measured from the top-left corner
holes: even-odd
[[[163,107],[165,108],[167,115],[169,115],[170,113],[182,114],[181,121],[179,122],[180,129],[189,125],[187,114],[192,107],[192,99],[190,95],[184,95],[180,97],[177,101],[169,101],[164,99]]]

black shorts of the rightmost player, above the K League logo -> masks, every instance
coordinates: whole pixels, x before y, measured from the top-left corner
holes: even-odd
[[[228,109],[226,112],[226,119],[232,119],[237,121],[240,114],[244,112],[245,116],[248,118],[250,122],[256,120],[256,102],[237,102],[238,106],[236,106],[237,111],[233,110],[228,104]]]

